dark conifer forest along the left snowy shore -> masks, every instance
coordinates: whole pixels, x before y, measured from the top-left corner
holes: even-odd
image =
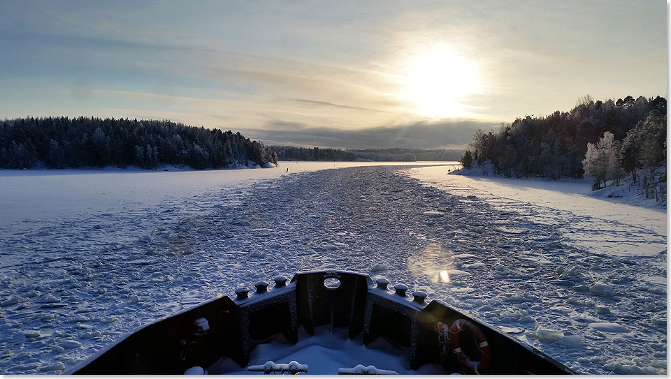
[[[0,121],[0,167],[85,168],[159,165],[235,168],[277,163],[277,154],[240,133],[168,120],[79,117]]]

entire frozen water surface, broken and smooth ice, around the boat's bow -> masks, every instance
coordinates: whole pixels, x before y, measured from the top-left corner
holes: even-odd
[[[308,164],[105,172],[115,177],[99,179],[109,188],[105,196],[95,193],[97,179],[71,175],[63,180],[89,196],[80,203],[48,174],[50,186],[24,172],[1,174],[0,190],[13,192],[1,192],[0,204],[14,211],[0,229],[0,373],[58,373],[138,325],[219,293],[325,268],[424,290],[580,373],[666,373],[665,213],[632,207],[622,216],[621,205],[600,202],[594,217],[586,208],[593,205],[570,191],[432,179],[430,169],[368,164],[291,174],[301,165]],[[258,176],[225,177],[252,175],[247,171]],[[142,189],[131,192],[129,180]],[[27,182],[38,188],[16,188]],[[39,195],[45,187],[74,209],[15,211],[30,202],[22,193]],[[44,201],[55,203],[48,195]],[[610,239],[590,229],[609,223],[630,232],[633,246],[618,248],[613,240],[615,248],[592,248],[575,237]],[[590,326],[606,323],[628,332]],[[537,330],[562,337],[544,341]]]

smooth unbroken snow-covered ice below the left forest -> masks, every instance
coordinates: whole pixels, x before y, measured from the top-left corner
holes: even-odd
[[[0,228],[61,216],[142,211],[147,206],[178,203],[203,191],[249,186],[252,181],[287,173],[400,163],[280,162],[273,169],[188,170],[168,166],[156,171],[140,168],[87,170],[0,169]],[[407,164],[407,163],[406,163]],[[413,163],[421,164],[421,162]],[[431,163],[441,164],[441,163]],[[165,172],[164,170],[168,170]],[[29,201],[28,201],[29,200]],[[203,206],[196,204],[195,209]],[[164,209],[170,211],[170,209]],[[186,209],[180,209],[185,211]]]

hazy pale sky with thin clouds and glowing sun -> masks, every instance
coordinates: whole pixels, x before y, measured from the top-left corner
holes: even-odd
[[[0,0],[0,119],[460,148],[586,94],[667,97],[665,1]]]

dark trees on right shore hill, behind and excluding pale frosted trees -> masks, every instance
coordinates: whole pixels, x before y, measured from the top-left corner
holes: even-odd
[[[556,111],[544,117],[526,116],[516,119],[510,125],[502,125],[498,132],[477,131],[468,145],[473,164],[481,165],[491,161],[498,174],[516,177],[582,177],[582,161],[586,156],[587,144],[597,144],[604,132],[614,135],[615,140],[623,140],[627,132],[649,114],[666,113],[665,98],[634,98],[626,96],[617,102],[612,99],[596,101],[592,96],[582,96],[569,112]],[[661,123],[658,123],[661,124]],[[657,130],[665,128],[657,128]],[[631,151],[626,144],[626,154],[635,153],[636,159],[662,164],[666,147],[661,138],[656,142],[641,142],[635,147],[643,151]],[[664,134],[665,135],[665,134]],[[629,150],[628,150],[629,148]],[[633,163],[625,165],[632,170]],[[636,163],[641,165],[643,163]],[[612,165],[614,167],[614,165]],[[620,174],[610,174],[614,180]]]

